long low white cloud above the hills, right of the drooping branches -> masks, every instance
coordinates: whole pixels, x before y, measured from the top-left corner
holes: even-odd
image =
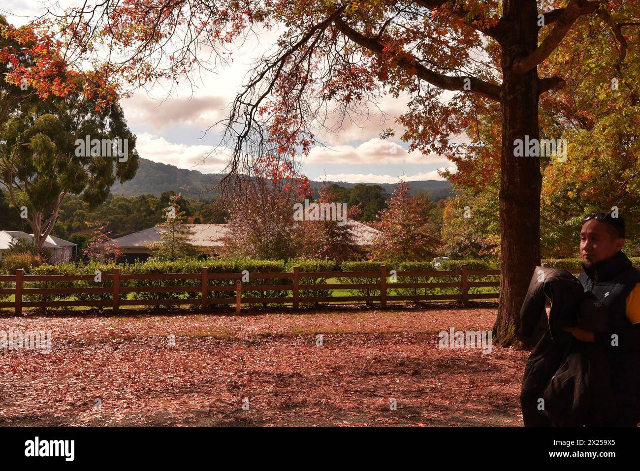
[[[373,138],[360,144],[335,145],[332,147],[316,146],[309,152],[305,163],[318,164],[447,164],[446,157],[429,155],[420,152],[408,152],[393,141]]]

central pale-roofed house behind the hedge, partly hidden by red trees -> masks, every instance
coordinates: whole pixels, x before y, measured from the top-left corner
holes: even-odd
[[[356,241],[361,246],[371,245],[373,239],[380,234],[379,230],[358,221],[349,220],[347,225],[355,232]],[[218,248],[223,246],[222,238],[228,232],[227,224],[186,224],[184,227],[189,228],[191,232],[187,241],[208,255],[218,254]],[[118,237],[114,239],[114,243],[120,246],[122,256],[127,262],[133,262],[136,259],[144,261],[151,256],[147,245],[159,241],[163,230],[165,229],[152,227]]]

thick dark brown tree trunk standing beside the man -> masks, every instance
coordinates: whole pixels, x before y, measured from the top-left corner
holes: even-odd
[[[493,338],[502,346],[517,342],[520,308],[534,268],[540,264],[540,158],[515,157],[515,140],[540,139],[538,72],[511,71],[513,61],[538,45],[535,0],[504,0],[509,21],[502,50],[502,159],[500,174],[500,304]]]

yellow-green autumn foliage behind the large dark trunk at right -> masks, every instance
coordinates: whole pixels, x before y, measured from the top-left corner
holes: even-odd
[[[630,19],[620,22],[606,13],[590,15],[549,58],[550,67],[565,77],[566,84],[541,97],[541,135],[566,141],[567,152],[540,157],[543,258],[577,257],[582,216],[614,206],[627,221],[625,252],[640,253],[634,237],[640,231],[640,90],[635,78],[640,74],[640,22],[633,9],[626,15]],[[598,60],[584,54],[584,38],[609,39],[589,42]],[[458,173],[449,175],[458,196],[448,204],[455,211],[445,221],[446,235],[454,237],[453,244],[468,241],[469,250],[475,241],[490,242],[499,235],[491,221],[499,204],[498,117],[496,107],[477,110],[477,119],[467,129],[472,143],[456,159]],[[460,217],[464,206],[472,214],[466,221]],[[495,248],[497,253],[499,244]]]

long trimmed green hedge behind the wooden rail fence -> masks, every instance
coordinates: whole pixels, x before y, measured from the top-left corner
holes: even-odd
[[[548,266],[557,268],[580,268],[582,261],[580,259],[563,259],[543,260]],[[632,259],[634,266],[640,266],[640,257]],[[460,267],[466,264],[469,269],[499,269],[497,262],[487,262],[484,260],[444,260],[440,262],[437,269],[440,270],[459,270]],[[372,262],[372,261],[356,261],[356,262],[343,262],[337,264],[333,260],[289,260],[285,264],[282,260],[255,260],[255,259],[212,259],[212,260],[197,260],[197,259],[182,259],[175,262],[169,261],[147,261],[136,262],[132,264],[100,264],[90,263],[86,265],[73,265],[73,264],[58,264],[58,265],[44,265],[40,267],[33,267],[29,270],[30,275],[93,275],[96,270],[99,270],[102,275],[113,274],[113,269],[119,267],[121,273],[200,273],[202,267],[207,267],[212,273],[240,273],[244,270],[248,270],[252,273],[273,273],[273,272],[287,272],[291,273],[292,267],[300,267],[301,272],[314,272],[314,271],[335,271],[335,277],[340,283],[371,283],[377,284],[379,278],[374,277],[346,277],[340,276],[340,271],[376,271],[380,270],[380,266],[387,266],[388,270],[396,271],[428,271],[435,270],[435,264],[433,262],[402,262],[400,264],[394,264],[392,262]],[[470,282],[481,281],[498,281],[499,275],[486,275],[479,276],[474,275],[469,277]],[[301,278],[301,284],[316,284],[323,285],[328,283],[330,278]],[[335,283],[335,281],[331,281]],[[459,283],[459,276],[397,276],[396,283],[427,283],[427,282],[452,282]],[[211,280],[212,286],[233,286],[235,280]],[[243,282],[243,298],[282,298],[291,296],[290,291],[284,290],[269,290],[269,291],[252,291],[251,285],[291,285],[291,278],[277,278],[277,279],[250,279],[249,282]],[[13,283],[0,283],[2,287],[13,287]],[[407,295],[424,295],[424,294],[460,294],[460,288],[458,287],[444,287],[444,288],[394,288],[394,281],[388,280],[388,294],[399,294],[403,296]],[[194,280],[121,280],[122,287],[164,287],[164,286],[200,286],[200,279]],[[29,282],[24,284],[25,288],[82,288],[82,287],[113,287],[113,282],[104,280],[100,283],[92,281],[71,281],[71,282]],[[377,288],[364,288],[364,289],[350,289],[348,290],[351,295],[358,296],[380,296],[380,289]],[[469,290],[470,294],[476,293],[497,293],[498,287],[472,287]],[[332,296],[332,290],[301,290],[300,296],[306,297],[325,297]],[[211,294],[214,298],[232,298],[235,296],[234,291],[226,292],[214,292]],[[0,296],[0,299],[8,299],[8,295]],[[136,292],[131,293],[129,296],[122,295],[122,299],[140,299],[140,305],[145,305],[145,300],[150,299],[198,299],[200,298],[200,292],[168,292],[168,293],[151,293],[151,292]],[[54,301],[63,299],[77,299],[79,301],[92,301],[92,300],[108,300],[111,299],[111,293],[91,293],[91,294],[74,294],[74,295],[55,295],[55,294],[25,294],[24,301]]]

